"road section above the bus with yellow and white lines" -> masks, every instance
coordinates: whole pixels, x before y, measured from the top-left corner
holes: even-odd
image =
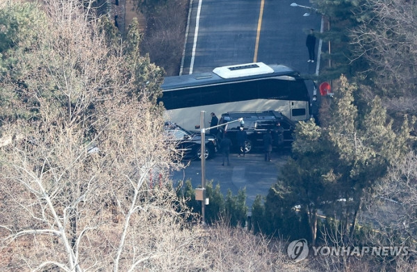
[[[202,2],[195,43],[199,1]],[[293,1],[193,0],[182,74],[189,74],[192,64],[195,74],[254,60],[288,65],[302,74],[314,74],[316,64],[306,62],[305,39],[309,28],[320,31],[320,15],[303,17],[304,12],[309,10],[291,7]],[[308,0],[297,3],[310,6]],[[259,47],[256,53],[258,31]]]

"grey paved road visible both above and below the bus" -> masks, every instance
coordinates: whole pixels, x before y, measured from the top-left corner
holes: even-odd
[[[279,63],[301,74],[314,74],[316,63],[306,61],[305,39],[309,28],[320,31],[321,18],[320,15],[303,17],[309,10],[291,7],[293,1],[193,0],[181,74],[254,61]],[[297,3],[310,6],[308,0],[297,0]],[[308,86],[312,94],[312,84]],[[257,194],[268,194],[285,162],[285,156],[264,162],[263,154],[252,153],[245,158],[231,156],[231,166],[222,167],[222,157],[218,155],[206,162],[206,180],[219,183],[224,195],[228,189],[236,195],[238,189],[246,187],[247,205],[252,207]],[[193,187],[198,187],[200,162],[190,162],[183,171],[172,173],[172,178],[174,181],[191,179]]]

